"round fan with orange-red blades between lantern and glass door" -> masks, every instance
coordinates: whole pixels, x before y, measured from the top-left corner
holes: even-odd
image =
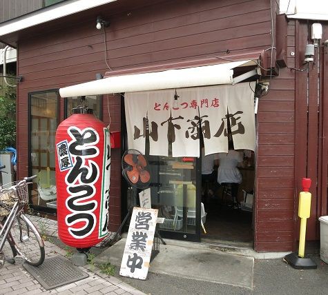
[[[126,150],[122,156],[122,174],[131,186],[146,188],[151,182],[151,172],[144,155],[138,150]]]

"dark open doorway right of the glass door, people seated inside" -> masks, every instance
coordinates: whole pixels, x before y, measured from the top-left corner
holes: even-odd
[[[206,212],[206,234],[202,232],[201,241],[253,247],[254,153],[202,153],[201,162],[201,201]]]

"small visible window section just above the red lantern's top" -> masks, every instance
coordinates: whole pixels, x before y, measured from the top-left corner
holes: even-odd
[[[93,114],[95,114],[99,120],[102,120],[101,95],[68,97],[65,103],[65,118],[70,116],[73,108],[77,108],[80,105],[86,105],[88,108],[93,109]]]

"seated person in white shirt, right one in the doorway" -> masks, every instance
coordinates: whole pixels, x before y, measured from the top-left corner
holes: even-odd
[[[243,152],[238,152],[233,149],[233,142],[229,141],[229,152],[219,153],[218,167],[218,183],[220,185],[231,186],[231,196],[233,199],[233,207],[238,206],[238,186],[242,183],[242,174],[238,169],[238,165],[244,161]]]

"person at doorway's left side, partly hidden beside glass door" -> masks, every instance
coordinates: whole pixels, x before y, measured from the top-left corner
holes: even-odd
[[[218,165],[218,159],[219,154],[208,154],[205,156],[205,150],[204,147],[202,147],[202,185],[204,187],[204,184],[206,181],[208,182],[208,185],[213,185],[213,190],[216,190],[218,188],[218,183],[216,181],[216,171],[214,170],[214,166]],[[209,186],[210,187],[210,186]],[[204,194],[209,193],[211,196],[214,195],[213,190],[209,189],[209,192],[204,192]],[[205,196],[208,198],[209,196]]]

